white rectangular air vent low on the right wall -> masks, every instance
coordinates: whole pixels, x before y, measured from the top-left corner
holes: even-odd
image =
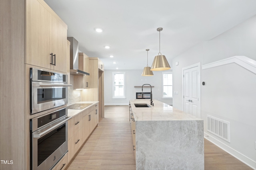
[[[230,143],[230,124],[207,115],[207,131]]]

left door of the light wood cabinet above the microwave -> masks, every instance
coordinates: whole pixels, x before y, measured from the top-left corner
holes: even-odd
[[[37,0],[27,0],[26,8],[25,63],[50,69],[52,14]]]

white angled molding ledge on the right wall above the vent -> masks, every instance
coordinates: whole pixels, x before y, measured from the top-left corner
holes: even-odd
[[[234,57],[230,57],[230,58],[216,61],[213,63],[204,64],[204,65],[202,65],[202,70],[207,69],[207,68],[216,67],[216,66],[225,65],[225,64],[230,64],[230,63],[236,63],[236,64],[246,68],[247,70],[253,72],[254,74],[256,74],[256,61],[252,60],[246,56],[234,56]]]

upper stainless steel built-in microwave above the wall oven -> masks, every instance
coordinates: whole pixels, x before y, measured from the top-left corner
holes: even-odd
[[[30,114],[68,104],[68,75],[30,68]]]

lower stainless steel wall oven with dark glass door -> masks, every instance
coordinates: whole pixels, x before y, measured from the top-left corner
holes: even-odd
[[[31,170],[49,170],[68,152],[67,110],[30,119]]]

